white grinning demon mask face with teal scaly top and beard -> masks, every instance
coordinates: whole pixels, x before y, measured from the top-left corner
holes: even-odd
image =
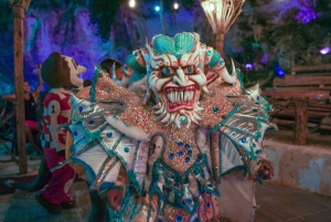
[[[157,35],[143,52],[147,61],[148,87],[157,101],[157,112],[162,123],[177,127],[200,120],[197,101],[205,88],[206,77],[200,60],[199,36],[179,33],[173,39]]]

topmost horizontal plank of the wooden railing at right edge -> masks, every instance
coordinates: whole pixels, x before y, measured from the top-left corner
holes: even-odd
[[[285,78],[274,78],[274,86],[331,85],[331,74],[322,75],[286,75]],[[330,88],[330,87],[329,87]]]

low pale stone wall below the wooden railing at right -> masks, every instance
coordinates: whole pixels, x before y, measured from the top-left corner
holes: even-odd
[[[265,140],[275,167],[273,181],[331,195],[331,149]]]

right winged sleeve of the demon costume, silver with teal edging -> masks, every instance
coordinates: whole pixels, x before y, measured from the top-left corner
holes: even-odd
[[[239,71],[237,71],[241,76]],[[260,96],[258,84],[244,89],[241,80],[221,84],[206,97],[204,115],[211,134],[212,169],[217,179],[235,169],[257,176],[265,159],[263,138],[276,126],[268,120],[270,105]]]

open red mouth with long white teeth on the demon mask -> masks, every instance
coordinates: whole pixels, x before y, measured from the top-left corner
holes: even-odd
[[[193,109],[194,96],[196,85],[188,85],[185,87],[164,87],[164,95],[167,96],[168,112],[175,112],[178,109]]]

